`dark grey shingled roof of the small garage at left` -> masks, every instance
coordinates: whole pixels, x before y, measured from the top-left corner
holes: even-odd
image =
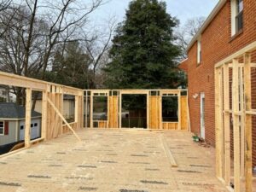
[[[33,117],[40,117],[41,113],[32,111]],[[26,109],[12,102],[0,103],[0,119],[25,119]]]

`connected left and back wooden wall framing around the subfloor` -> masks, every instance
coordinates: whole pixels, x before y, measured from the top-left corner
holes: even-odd
[[[121,127],[120,112],[121,97],[123,95],[145,94],[147,96],[147,128],[189,130],[188,98],[187,94],[186,96],[182,96],[182,92],[187,92],[187,90],[80,90],[61,84],[53,84],[38,79],[31,79],[3,72],[0,72],[0,79],[0,84],[18,86],[26,89],[26,148],[29,148],[34,143],[59,137],[61,134],[68,131],[72,131],[74,136],[80,140],[76,131],[84,127],[84,121],[85,127],[88,127],[89,120],[93,119],[94,96],[106,96],[108,98],[108,119],[97,122],[100,128]],[[41,137],[36,140],[30,139],[32,91],[42,92]],[[158,92],[159,95],[153,96],[153,91]],[[65,94],[75,96],[75,118],[72,123],[67,123],[67,120],[63,117],[63,96]],[[177,95],[178,97],[178,122],[162,121],[161,98],[168,94]],[[90,120],[90,127],[93,127],[93,123],[93,120]]]

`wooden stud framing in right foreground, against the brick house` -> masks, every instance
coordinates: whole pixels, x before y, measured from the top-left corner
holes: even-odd
[[[256,42],[215,66],[216,174],[230,191],[235,192],[253,191],[252,115],[256,113],[252,109],[251,68],[255,65],[251,54],[255,49]],[[230,176],[230,117],[233,120],[234,177]],[[234,189],[230,188],[231,178],[234,178]],[[243,178],[245,186],[242,186]]]

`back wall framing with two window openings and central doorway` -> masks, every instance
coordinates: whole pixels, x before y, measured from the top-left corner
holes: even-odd
[[[185,94],[182,94],[185,93]],[[147,96],[147,128],[152,130],[189,130],[189,107],[187,90],[84,90],[85,101],[85,125],[94,127],[93,98],[94,96],[108,97],[108,120],[98,122],[98,128],[122,128],[122,96],[123,95],[145,95]],[[163,122],[162,119],[162,97],[177,96],[178,121]],[[89,102],[90,98],[90,102]],[[90,115],[89,115],[90,113]],[[93,119],[93,120],[90,120]],[[87,127],[87,126],[86,126]]]

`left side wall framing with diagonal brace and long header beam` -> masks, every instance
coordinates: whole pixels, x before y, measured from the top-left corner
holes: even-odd
[[[0,79],[0,84],[18,86],[26,89],[26,148],[30,147],[34,143],[59,137],[62,133],[67,131],[73,131],[75,134],[74,130],[83,127],[83,90],[3,72],[0,72]],[[41,137],[31,141],[30,125],[33,90],[42,92],[42,125]],[[64,94],[75,96],[75,120],[72,124],[68,124],[66,119],[62,116]]]

